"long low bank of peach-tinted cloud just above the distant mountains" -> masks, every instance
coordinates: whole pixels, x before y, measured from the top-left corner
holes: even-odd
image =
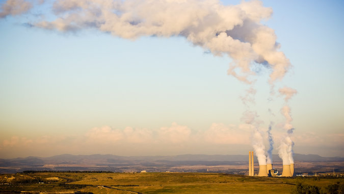
[[[0,143],[2,157],[51,156],[56,154],[116,154],[116,155],[171,155],[171,154],[240,154],[242,147],[250,148],[253,125],[225,125],[213,123],[206,131],[191,130],[188,126],[172,123],[157,129],[115,129],[109,126],[92,128],[80,135],[43,135],[35,138],[13,136]],[[260,128],[260,131],[266,129]],[[282,129],[272,130],[275,148],[285,137]],[[260,136],[259,136],[260,138]],[[267,134],[263,133],[268,145]],[[320,135],[297,133],[290,136],[296,149],[331,148],[331,154],[342,156],[344,134]],[[261,145],[260,145],[261,146]],[[238,148],[240,147],[240,149]],[[300,150],[301,149],[301,150]],[[239,151],[240,150],[240,151]],[[312,153],[316,154],[313,150]],[[244,154],[244,153],[243,153]],[[246,153],[245,153],[246,154]]]

